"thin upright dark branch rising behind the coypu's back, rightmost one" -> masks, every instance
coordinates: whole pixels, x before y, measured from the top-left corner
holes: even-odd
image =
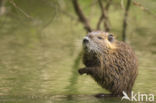
[[[124,12],[123,30],[122,30],[122,40],[123,41],[126,41],[127,18],[128,18],[129,9],[130,9],[130,6],[131,6],[131,1],[132,0],[127,0],[125,12]]]

